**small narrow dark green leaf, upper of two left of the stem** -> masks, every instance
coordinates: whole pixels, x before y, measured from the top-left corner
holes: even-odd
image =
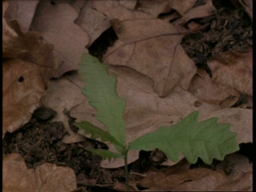
[[[125,146],[117,141],[112,135],[110,135],[108,132],[103,131],[99,127],[91,124],[90,122],[80,122],[80,123],[74,123],[75,126],[77,126],[80,129],[83,129],[85,134],[91,134],[92,139],[100,138],[102,142],[104,141],[110,141],[111,143],[118,145],[120,147],[125,148]]]

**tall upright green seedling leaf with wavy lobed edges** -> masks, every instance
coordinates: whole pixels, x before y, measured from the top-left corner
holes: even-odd
[[[98,110],[96,118],[114,138],[125,145],[126,125],[123,115],[126,100],[116,93],[116,76],[109,75],[107,67],[87,53],[83,54],[79,74],[85,82],[83,93],[89,98],[90,105]]]

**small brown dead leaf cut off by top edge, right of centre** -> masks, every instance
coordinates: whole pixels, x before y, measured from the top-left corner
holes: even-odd
[[[171,11],[168,0],[140,1],[138,9],[154,15],[155,18],[161,13],[168,13]]]

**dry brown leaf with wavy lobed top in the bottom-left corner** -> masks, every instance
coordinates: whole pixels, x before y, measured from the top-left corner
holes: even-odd
[[[69,167],[44,163],[36,169],[27,169],[19,154],[3,159],[4,192],[69,192],[76,189],[76,176]]]

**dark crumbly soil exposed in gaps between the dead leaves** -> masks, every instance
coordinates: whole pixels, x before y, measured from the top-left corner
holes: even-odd
[[[230,49],[245,51],[252,45],[252,22],[242,7],[231,1],[213,2],[217,12],[210,17],[197,20],[201,24],[209,23],[209,26],[199,33],[185,36],[181,43],[196,66],[206,69],[210,75],[207,60],[219,52]],[[101,60],[102,55],[116,39],[114,30],[110,28],[89,47],[89,51]],[[35,111],[30,122],[19,131],[6,133],[3,139],[4,156],[19,153],[25,159],[28,168],[35,168],[45,162],[71,167],[75,171],[77,185],[81,187],[79,191],[115,191],[115,181],[125,182],[123,167],[102,169],[99,167],[101,157],[85,150],[88,147],[107,149],[104,143],[91,139],[71,144],[61,142],[63,135],[67,133],[62,122],[50,122],[55,115],[55,111],[41,107]],[[70,127],[77,131],[77,127],[73,125],[74,121],[75,119],[70,117]],[[240,153],[249,156],[252,161],[251,144],[243,144]],[[161,158],[155,158],[156,154],[161,154]],[[165,155],[159,150],[141,151],[139,160],[130,164],[129,170],[137,173],[147,170],[162,171],[164,166],[160,164],[165,159]],[[213,161],[211,165],[205,165],[199,159],[190,168],[204,166],[214,169],[218,163],[219,161]],[[131,175],[131,179],[138,178]]]

